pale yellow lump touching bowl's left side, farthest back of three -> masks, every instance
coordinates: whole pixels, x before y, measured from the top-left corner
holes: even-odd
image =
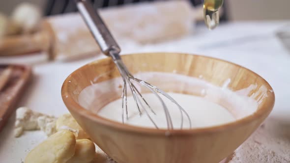
[[[81,128],[78,122],[71,116],[71,114],[63,114],[58,117],[57,131],[69,130],[74,133],[76,139],[89,138],[85,131]]]

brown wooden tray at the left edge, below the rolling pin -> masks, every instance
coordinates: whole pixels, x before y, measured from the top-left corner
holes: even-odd
[[[29,66],[0,65],[0,131],[15,110],[30,78]]]

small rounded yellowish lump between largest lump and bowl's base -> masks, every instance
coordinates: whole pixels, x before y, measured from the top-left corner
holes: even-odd
[[[76,142],[75,155],[67,163],[90,163],[95,157],[95,144],[89,139]]]

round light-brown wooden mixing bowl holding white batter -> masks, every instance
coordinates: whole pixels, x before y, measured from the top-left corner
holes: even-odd
[[[97,82],[119,77],[110,58],[89,63],[73,72],[63,83],[62,99],[72,116],[91,139],[117,163],[218,163],[245,141],[271,112],[275,96],[271,86],[256,73],[239,65],[211,57],[190,54],[149,53],[123,55],[128,69],[137,72],[169,72],[203,79],[222,86],[231,79],[233,91],[256,87],[249,93],[260,94],[258,109],[232,123],[189,130],[155,130],[114,122],[83,108],[78,103],[79,93],[90,81],[104,72]],[[159,85],[157,85],[159,86]],[[266,88],[261,91],[261,87]],[[110,88],[108,88],[110,91]],[[186,91],[182,88],[181,93]],[[261,96],[263,98],[261,98]],[[101,97],[109,103],[114,98]],[[260,99],[258,99],[260,98]]]

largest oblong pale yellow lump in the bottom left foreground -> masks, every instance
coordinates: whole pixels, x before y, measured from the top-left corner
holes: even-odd
[[[32,149],[24,163],[66,163],[73,157],[75,149],[76,138],[73,133],[62,130]]]

